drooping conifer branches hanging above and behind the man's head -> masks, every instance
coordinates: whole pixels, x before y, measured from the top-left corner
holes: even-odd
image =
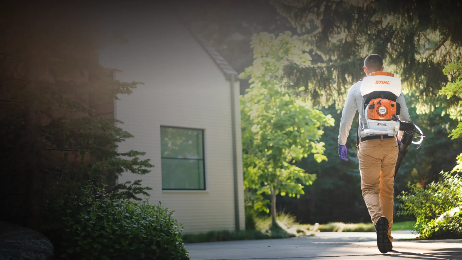
[[[438,97],[448,81],[446,64],[461,56],[459,1],[438,0],[272,0],[296,26],[322,62],[285,68],[291,85],[304,85],[317,103],[344,102],[346,89],[363,77],[363,60],[371,53],[384,58],[420,109],[456,104]],[[451,74],[452,72],[450,72]]]

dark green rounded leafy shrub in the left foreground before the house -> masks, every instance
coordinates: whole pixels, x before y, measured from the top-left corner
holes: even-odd
[[[49,196],[48,234],[64,259],[189,259],[172,211],[86,186]],[[181,226],[181,225],[180,225]],[[58,242],[59,241],[59,242]]]

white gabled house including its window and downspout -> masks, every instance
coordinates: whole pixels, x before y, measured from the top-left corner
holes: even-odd
[[[183,223],[185,233],[244,229],[241,120],[237,73],[166,8],[107,10],[104,28],[122,29],[126,43],[100,52],[117,80],[140,81],[114,102],[114,117],[134,135],[119,151],[145,151],[155,166],[142,179]],[[117,13],[117,12],[122,12]]]

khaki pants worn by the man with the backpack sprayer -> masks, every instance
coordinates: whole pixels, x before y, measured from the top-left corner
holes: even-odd
[[[396,139],[372,139],[358,146],[359,172],[364,201],[374,227],[380,217],[389,222],[388,237],[393,225],[393,184],[398,157]]]

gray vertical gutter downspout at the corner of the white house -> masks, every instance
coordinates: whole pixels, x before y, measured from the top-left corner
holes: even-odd
[[[233,166],[233,179],[234,179],[234,217],[236,223],[236,230],[240,230],[239,222],[239,192],[238,192],[238,181],[237,181],[237,154],[236,154],[236,100],[234,92],[234,74],[231,76],[231,128],[232,128],[232,166]]]

